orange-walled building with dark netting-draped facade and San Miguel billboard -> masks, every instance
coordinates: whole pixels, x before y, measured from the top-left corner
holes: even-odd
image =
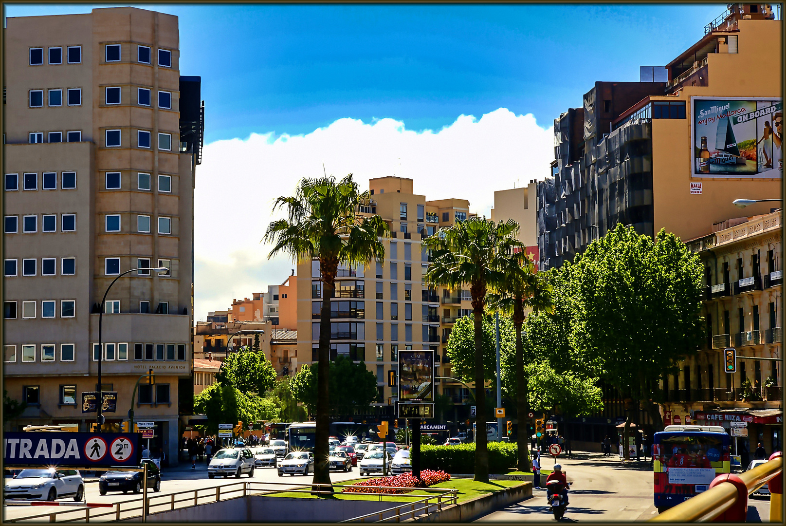
[[[554,121],[553,177],[537,189],[541,269],[617,223],[693,239],[729,218],[733,200],[780,193],[783,78],[767,65],[783,59],[780,12],[730,6],[665,68],[595,83]]]

